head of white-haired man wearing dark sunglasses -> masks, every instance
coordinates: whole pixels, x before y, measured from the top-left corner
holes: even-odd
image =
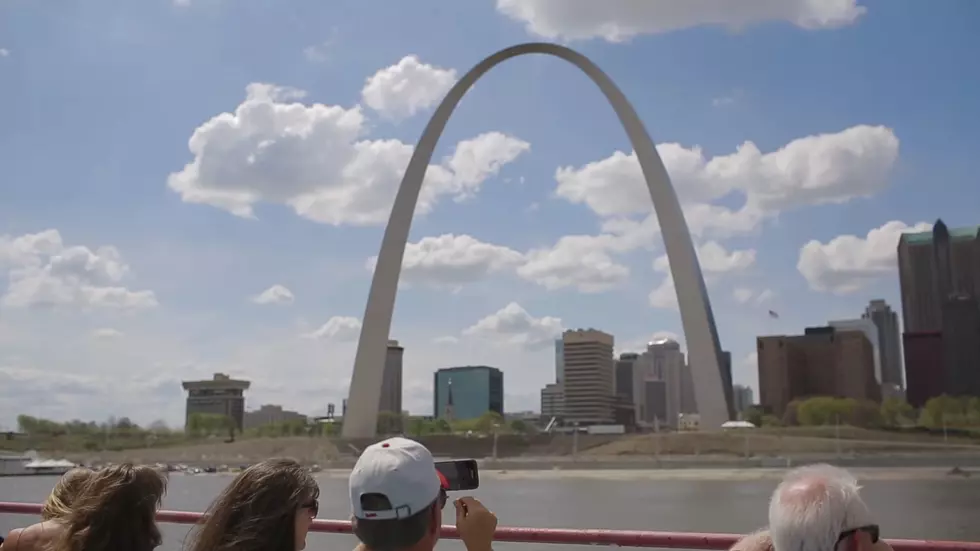
[[[769,502],[774,551],[891,551],[857,479],[831,465],[786,474]]]

